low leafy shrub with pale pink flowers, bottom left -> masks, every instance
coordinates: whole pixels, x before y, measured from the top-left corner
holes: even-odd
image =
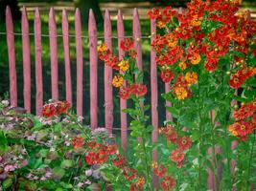
[[[0,188],[84,190],[105,186],[99,164],[117,152],[105,129],[91,132],[67,101],[43,106],[42,116],[26,115],[0,103]]]

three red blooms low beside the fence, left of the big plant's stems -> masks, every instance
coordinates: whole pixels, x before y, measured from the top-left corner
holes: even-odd
[[[177,168],[180,168],[182,166],[182,161],[185,158],[184,151],[192,146],[191,138],[178,137],[175,128],[171,125],[160,128],[159,133],[169,142],[177,145],[177,148],[172,151],[170,158],[176,163]]]

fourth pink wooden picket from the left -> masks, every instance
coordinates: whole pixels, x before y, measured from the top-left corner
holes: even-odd
[[[58,36],[54,8],[49,12],[52,98],[58,100]]]

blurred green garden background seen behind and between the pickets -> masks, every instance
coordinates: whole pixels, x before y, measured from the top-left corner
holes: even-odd
[[[116,14],[118,10],[123,11],[125,18],[125,34],[132,34],[132,11],[133,8],[139,9],[141,18],[141,30],[144,36],[149,36],[151,32],[150,20],[147,19],[147,11],[153,7],[164,7],[171,5],[172,7],[184,7],[188,0],[0,0],[0,32],[6,32],[5,26],[5,9],[9,5],[12,9],[13,17],[13,29],[14,32],[21,32],[20,10],[25,6],[29,12],[29,24],[30,32],[34,32],[34,11],[35,7],[38,7],[41,13],[41,25],[42,33],[48,34],[48,12],[51,7],[56,10],[56,20],[58,25],[58,34],[61,34],[61,10],[66,9],[68,11],[69,30],[70,34],[75,33],[74,26],[74,12],[75,8],[81,10],[82,20],[82,35],[88,35],[87,20],[88,11],[93,9],[97,18],[97,28],[99,40],[104,36],[103,15],[105,9],[108,9],[112,19],[112,31],[113,35],[117,32]],[[243,9],[250,9],[255,12],[256,0],[244,0],[242,4]],[[255,13],[254,13],[255,14]],[[35,112],[35,47],[34,36],[30,37],[31,40],[31,61],[32,61],[32,106],[33,112]],[[73,85],[73,100],[74,107],[76,107],[76,41],[75,37],[70,37],[70,56],[71,56],[71,70],[72,70],[72,85]],[[85,123],[89,124],[89,50],[88,50],[88,38],[82,38],[83,46],[83,116]],[[145,70],[145,82],[150,85],[150,50],[151,42],[150,38],[142,39],[143,47],[143,66]],[[113,39],[113,51],[118,52],[117,40]],[[9,91],[9,66],[8,66],[8,50],[6,35],[0,34],[0,96],[4,96]],[[18,83],[18,104],[23,106],[23,68],[22,68],[22,44],[21,36],[15,35],[15,54],[16,54],[16,71],[17,71],[17,83]],[[42,37],[42,63],[43,63],[43,84],[44,84],[44,100],[51,98],[51,71],[50,71],[50,48],[49,37]],[[59,73],[59,99],[65,99],[65,77],[64,77],[64,55],[62,37],[58,37],[58,73]],[[104,64],[99,62],[99,126],[104,126]],[[148,86],[150,87],[150,86]],[[158,96],[159,96],[159,124],[162,124],[165,118],[164,99],[161,94],[164,92],[164,85],[162,82],[158,82]],[[116,95],[117,91],[114,90]],[[151,94],[147,95],[146,103],[150,103]],[[119,110],[119,98],[114,96],[114,126],[120,127],[120,110]]]

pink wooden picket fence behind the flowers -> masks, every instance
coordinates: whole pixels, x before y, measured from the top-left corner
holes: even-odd
[[[133,11],[133,32],[131,36],[135,39],[135,50],[137,51],[136,61],[138,68],[143,70],[142,60],[142,34],[138,10]],[[65,97],[66,100],[72,103],[74,97],[72,97],[72,78],[70,70],[70,45],[69,45],[69,25],[67,19],[67,12],[62,11],[62,34],[58,35],[57,24],[55,20],[55,11],[51,8],[49,12],[49,40],[50,40],[50,59],[51,59],[51,89],[52,98],[58,99],[58,37],[63,38],[63,52],[65,63]],[[22,22],[21,22],[21,35],[22,35],[22,55],[23,55],[23,97],[24,108],[31,112],[31,50],[30,50],[30,36],[35,37],[35,113],[36,116],[41,116],[43,102],[43,76],[42,76],[42,33],[41,33],[41,20],[38,9],[35,9],[35,22],[34,33],[29,32],[29,21],[27,17],[26,8],[22,10]],[[105,11],[105,43],[111,49],[112,48],[112,29],[109,12]],[[6,9],[6,30],[7,30],[7,45],[8,45],[8,57],[9,57],[9,73],[10,73],[10,99],[12,106],[17,106],[17,77],[15,69],[15,46],[14,46],[14,32],[12,23],[12,12],[9,7]],[[120,42],[126,37],[125,26],[123,22],[123,15],[121,11],[118,11],[117,15],[117,40],[119,58],[124,56],[124,52],[120,48]],[[156,33],[155,21],[151,21],[151,41],[154,40]],[[75,12],[75,38],[76,38],[76,56],[77,56],[77,115],[83,115],[82,108],[82,79],[83,79],[83,50],[81,44],[81,13],[79,9]],[[88,20],[88,38],[89,38],[89,64],[90,64],[90,126],[92,129],[98,128],[98,53],[97,53],[97,28],[93,11],[89,12]],[[155,62],[155,53],[151,49],[151,124],[153,125],[152,142],[156,142],[158,139],[158,89],[157,89],[157,68]],[[113,130],[113,94],[112,94],[112,69],[105,66],[105,128],[112,133]],[[47,86],[48,84],[44,84]],[[170,91],[170,86],[165,84],[165,91]],[[171,106],[170,102],[165,103],[166,106]],[[120,110],[123,111],[127,108],[127,101],[120,99]],[[128,149],[128,118],[127,114],[120,112],[121,118],[121,143],[125,152]],[[172,115],[166,112],[166,119],[171,120]],[[152,157],[157,160],[157,151],[153,151]],[[157,179],[154,177],[154,186],[157,184]],[[212,172],[209,172],[208,178],[209,188],[214,188],[214,176]]]

